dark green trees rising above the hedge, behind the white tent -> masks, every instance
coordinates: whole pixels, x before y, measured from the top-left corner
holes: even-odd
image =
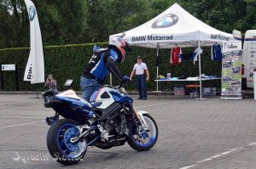
[[[256,29],[255,0],[33,0],[44,45],[108,42],[180,4],[208,25],[226,32]],[[0,48],[28,47],[29,20],[24,0],[0,1]]]

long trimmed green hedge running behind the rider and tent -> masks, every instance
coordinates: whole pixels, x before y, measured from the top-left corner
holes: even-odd
[[[94,44],[71,44],[61,46],[44,47],[44,64],[45,76],[53,74],[58,83],[59,90],[63,90],[62,84],[66,79],[73,79],[74,89],[79,91],[79,78],[87,65],[92,54]],[[107,47],[108,43],[98,43],[102,48]],[[195,48],[183,48],[183,54],[193,52]],[[206,75],[221,75],[221,63],[210,59],[210,48],[203,48],[204,52],[201,56],[202,73]],[[23,76],[26,62],[29,55],[29,48],[4,48],[0,49],[0,64],[17,64],[19,70],[20,91],[39,91],[44,90],[44,84],[30,84],[24,82]],[[143,57],[143,61],[148,65],[151,80],[148,82],[148,90],[156,89],[154,82],[156,76],[155,56],[156,49],[151,48],[132,48],[130,54],[127,54],[125,62],[119,64],[119,70],[127,76],[130,76],[133,65],[136,63],[137,55]],[[167,72],[171,72],[172,76],[198,76],[198,65],[194,65],[192,60],[186,60],[181,65],[170,65],[170,49],[160,49],[160,74],[166,76]],[[4,90],[15,90],[15,73],[14,71],[3,71]],[[114,79],[114,78],[113,78]],[[0,80],[1,81],[1,80]],[[107,81],[109,82],[109,81]],[[1,83],[0,83],[1,84]],[[119,82],[113,81],[118,85]],[[173,84],[170,84],[171,86]],[[214,86],[219,87],[220,82],[214,82]],[[136,90],[136,82],[133,81],[127,86],[129,90]],[[0,90],[1,87],[0,87]]]

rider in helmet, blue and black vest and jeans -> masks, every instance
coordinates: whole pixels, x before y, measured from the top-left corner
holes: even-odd
[[[117,63],[125,60],[125,52],[131,51],[129,43],[123,37],[125,34],[113,37],[106,49],[94,48],[94,54],[80,79],[84,99],[89,100],[92,93],[99,90],[109,71],[120,82],[129,82],[129,77],[122,76],[116,66]]]

